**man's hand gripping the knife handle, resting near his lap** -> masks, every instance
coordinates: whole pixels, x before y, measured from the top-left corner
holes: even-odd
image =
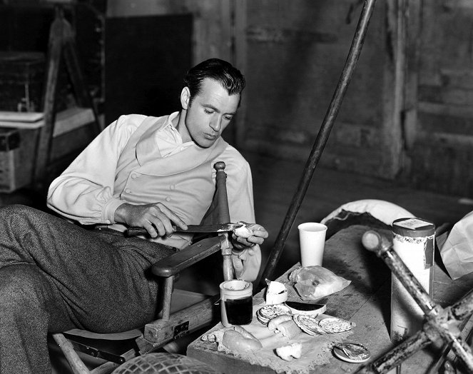
[[[184,221],[163,203],[144,205],[124,203],[116,208],[114,218],[116,222],[126,223],[130,227],[146,228],[151,238],[171,236],[174,232],[173,223],[183,230],[187,229]]]

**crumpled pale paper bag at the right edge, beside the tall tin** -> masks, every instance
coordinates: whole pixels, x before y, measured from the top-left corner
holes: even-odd
[[[443,244],[437,245],[449,276],[460,278],[473,271],[473,212],[458,221]]]

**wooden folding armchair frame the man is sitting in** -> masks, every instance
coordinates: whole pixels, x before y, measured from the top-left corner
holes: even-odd
[[[203,219],[203,223],[228,223],[230,214],[228,212],[228,197],[226,191],[225,163],[215,163],[217,170],[216,190],[213,202],[208,213]],[[220,315],[215,310],[215,302],[220,295],[202,297],[198,303],[181,308],[176,298],[173,298],[174,279],[189,266],[221,251],[223,256],[223,279],[228,281],[233,279],[233,266],[231,263],[231,245],[228,241],[228,233],[220,233],[218,236],[203,238],[193,243],[193,245],[182,251],[164,258],[155,263],[152,272],[162,281],[161,285],[161,313],[158,318],[146,324],[143,329],[126,331],[118,334],[97,334],[85,330],[69,330],[64,333],[53,334],[53,338],[61,348],[68,360],[73,373],[76,374],[105,374],[111,373],[126,360],[130,360],[137,355],[144,355],[153,350],[163,347],[167,343],[181,338],[199,328],[209,325]],[[189,298],[185,291],[175,291],[184,298]],[[174,309],[174,310],[173,310]],[[132,340],[132,346],[123,353],[111,353],[94,345],[103,340]],[[86,343],[84,342],[86,340]],[[100,344],[99,344],[100,345]],[[79,350],[96,358],[106,360],[93,370],[89,370],[83,359],[78,355]]]

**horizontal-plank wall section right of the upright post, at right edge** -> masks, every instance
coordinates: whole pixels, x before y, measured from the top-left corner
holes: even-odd
[[[423,4],[417,113],[415,122],[407,123],[414,139],[405,176],[417,188],[472,197],[473,2]]]

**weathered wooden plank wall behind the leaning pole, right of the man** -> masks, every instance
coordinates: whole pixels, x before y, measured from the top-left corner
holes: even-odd
[[[322,166],[473,196],[472,4],[377,1]],[[245,6],[240,39],[248,89],[240,146],[305,161],[362,4],[252,0]]]

